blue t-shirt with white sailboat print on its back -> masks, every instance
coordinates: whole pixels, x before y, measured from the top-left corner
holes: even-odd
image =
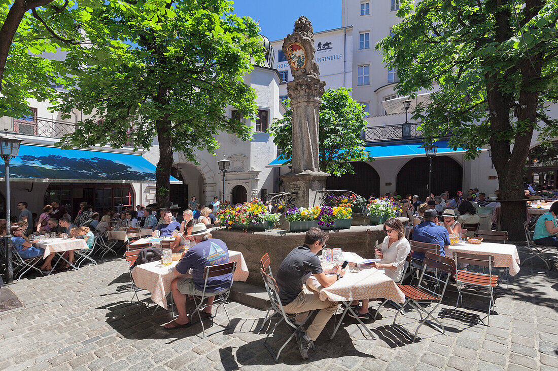
[[[184,257],[178,262],[175,269],[180,274],[192,269],[192,279],[196,289],[204,289],[204,268],[229,262],[229,250],[227,245],[217,238],[210,238],[207,241],[196,243],[190,247]],[[208,292],[218,292],[228,289],[227,282],[230,281],[230,274],[211,277],[208,279]]]

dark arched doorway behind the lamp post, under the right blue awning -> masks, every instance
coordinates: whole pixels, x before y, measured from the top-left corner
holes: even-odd
[[[397,193],[428,195],[428,159],[416,157],[409,160],[397,173]],[[449,156],[436,156],[432,160],[432,193],[436,196],[450,191],[450,195],[463,191],[463,167]]]

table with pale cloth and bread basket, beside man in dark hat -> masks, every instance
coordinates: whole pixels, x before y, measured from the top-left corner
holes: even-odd
[[[495,267],[509,269],[509,274],[515,276],[519,272],[519,255],[516,245],[510,243],[481,242],[480,245],[460,242],[459,245],[448,247],[446,256],[453,258],[454,251],[467,252],[479,255],[494,256]]]

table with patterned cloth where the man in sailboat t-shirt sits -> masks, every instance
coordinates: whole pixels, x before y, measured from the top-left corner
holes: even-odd
[[[237,262],[234,271],[234,281],[246,281],[248,278],[248,266],[242,252],[229,250],[229,262]],[[132,270],[132,277],[137,287],[151,292],[151,300],[167,309],[166,296],[171,291],[171,282],[177,277],[192,277],[192,270],[182,275],[175,270],[179,261],[173,261],[171,265],[162,265],[161,261],[153,261],[138,265]]]

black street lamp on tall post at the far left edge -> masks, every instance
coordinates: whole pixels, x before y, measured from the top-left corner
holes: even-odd
[[[9,221],[9,160],[16,157],[20,150],[21,139],[15,136],[8,136],[8,129],[4,129],[6,135],[0,138],[0,157],[4,159],[6,166],[6,236],[4,246],[6,246],[6,282],[11,284],[13,281],[12,267],[12,236],[10,235],[11,223]]]

